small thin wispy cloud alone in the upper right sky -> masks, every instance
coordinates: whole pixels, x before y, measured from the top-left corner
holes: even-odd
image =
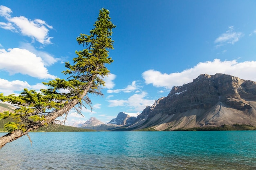
[[[234,44],[235,42],[238,42],[238,40],[243,37],[243,33],[241,32],[234,32],[234,26],[229,26],[229,30],[227,30],[225,33],[222,33],[214,43],[218,44],[216,47],[225,45],[225,44]]]

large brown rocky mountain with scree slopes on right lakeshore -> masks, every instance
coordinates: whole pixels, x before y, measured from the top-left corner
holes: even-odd
[[[147,106],[126,130],[256,126],[256,82],[226,74],[198,76],[174,86],[167,97]]]

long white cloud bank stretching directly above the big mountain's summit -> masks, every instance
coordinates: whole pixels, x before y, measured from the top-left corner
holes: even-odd
[[[239,77],[245,80],[256,81],[256,61],[238,63],[236,60],[220,61],[215,59],[212,62],[200,62],[193,68],[186,69],[181,73],[161,73],[155,70],[148,70],[142,73],[146,84],[153,84],[155,87],[171,89],[173,86],[181,86],[192,82],[200,74],[214,75],[224,73]]]

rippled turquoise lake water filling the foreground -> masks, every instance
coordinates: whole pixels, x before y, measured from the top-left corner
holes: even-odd
[[[0,136],[4,133],[0,133]],[[34,132],[0,149],[1,170],[255,170],[256,131]]]

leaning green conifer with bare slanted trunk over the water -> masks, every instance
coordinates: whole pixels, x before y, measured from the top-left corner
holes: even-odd
[[[67,80],[57,78],[43,83],[49,88],[41,89],[40,93],[24,89],[19,96],[0,94],[0,100],[17,107],[13,112],[0,113],[0,119],[11,117],[13,120],[4,125],[9,133],[0,137],[0,148],[31,130],[53,122],[73,107],[79,110],[86,104],[91,106],[89,94],[102,95],[100,88],[105,83],[103,78],[110,72],[105,64],[113,62],[108,49],[113,49],[111,35],[115,25],[110,19],[109,11],[101,9],[90,35],[80,34],[76,38],[79,44],[87,48],[76,51],[73,65],[66,62],[67,70],[63,73],[68,75]]]

